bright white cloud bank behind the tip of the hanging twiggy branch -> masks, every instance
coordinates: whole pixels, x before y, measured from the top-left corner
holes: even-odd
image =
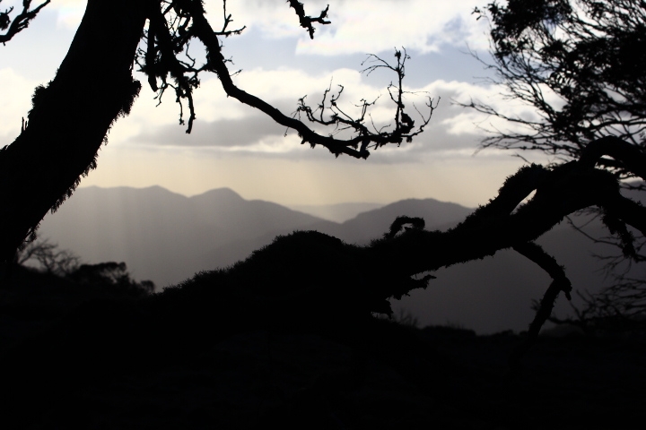
[[[371,108],[372,118],[378,127],[392,123],[395,106],[388,97],[388,90],[383,86],[377,87],[377,80],[369,80],[354,70],[338,69],[331,73],[309,74],[288,67],[273,70],[257,68],[241,73],[235,80],[240,88],[265,99],[289,116],[297,106],[297,99],[305,94],[309,94],[307,100],[310,106],[316,107],[322,90],[330,84],[330,76],[334,76],[333,87],[336,82],[345,85],[344,97],[340,99],[338,106],[346,112],[354,111],[356,114],[358,108],[354,107],[354,103],[362,98],[371,100],[381,95]],[[477,125],[487,121],[487,118],[474,110],[458,107],[451,100],[464,100],[471,96],[491,101],[494,106],[504,107],[498,97],[500,88],[495,85],[479,86],[467,82],[436,80],[408,90],[418,93],[405,99],[406,110],[417,124],[423,119],[415,111],[414,104],[424,116],[428,115],[428,111],[424,110],[426,97],[440,100],[439,106],[433,112],[424,133],[416,136],[413,143],[403,142],[399,148],[388,145],[372,150],[375,162],[418,162],[426,156],[445,159],[470,157],[476,152],[478,142],[483,137],[483,132]],[[152,98],[152,95],[148,90],[147,95],[142,97],[147,99]],[[139,147],[195,148],[261,158],[298,159],[304,154],[301,140],[294,131],[289,130],[287,137],[284,137],[284,126],[275,124],[271,118],[256,109],[227,98],[216,78],[203,82],[196,91],[197,120],[191,134],[184,133],[185,126],[179,126],[174,121],[178,107],[174,106],[172,99],[165,100],[162,107],[153,106],[154,103],[149,100],[139,100],[133,114],[119,122],[127,124],[115,127],[117,130],[113,133],[118,137],[117,140]],[[306,120],[303,118],[303,121]],[[308,125],[321,134],[333,132],[310,123]],[[130,132],[119,130],[121,126],[124,127],[123,130],[129,129]],[[110,136],[111,142],[114,136]],[[349,136],[340,134],[338,137]],[[329,154],[327,150],[319,148],[306,157],[328,158]]]

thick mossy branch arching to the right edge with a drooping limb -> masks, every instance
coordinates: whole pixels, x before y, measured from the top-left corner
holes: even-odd
[[[543,324],[551,318],[559,292],[563,291],[569,298],[572,290],[563,268],[533,241],[567,215],[589,207],[612,213],[613,222],[636,228],[642,235],[646,233],[646,208],[621,194],[617,176],[590,163],[590,159],[611,153],[625,166],[633,161],[624,159],[622,152],[604,149],[603,142],[594,143],[589,147],[590,153],[583,150],[581,160],[552,168],[532,165],[519,169],[505,181],[492,201],[446,232],[415,228],[415,223],[422,225],[416,219],[397,219],[390,233],[366,249],[362,264],[370,268],[371,275],[367,276],[371,276],[373,294],[383,299],[401,297],[420,287],[411,282],[414,275],[512,248],[537,263],[552,278],[537,306],[536,318],[529,326],[527,342],[511,357],[512,364],[518,364],[523,352],[537,339]],[[532,192],[536,193],[523,203]],[[404,223],[413,223],[414,228],[398,233]],[[630,238],[624,237],[624,240]]]

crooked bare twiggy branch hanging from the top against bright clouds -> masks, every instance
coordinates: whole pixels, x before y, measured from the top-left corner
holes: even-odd
[[[295,1],[289,3],[298,14],[301,25],[310,31],[310,36],[313,35],[313,22],[329,23],[325,20],[327,8],[320,13],[319,17],[312,18],[305,15],[301,3]],[[358,117],[354,117],[342,109],[337,104],[337,100],[343,92],[342,86],[339,86],[340,90],[336,95],[332,95],[331,88],[328,88],[324,92],[323,101],[316,108],[307,106],[305,98],[301,98],[295,115],[286,116],[265,100],[240,89],[231,80],[231,75],[235,73],[231,73],[228,69],[227,63],[231,63],[231,60],[223,56],[219,37],[240,34],[244,27],[238,30],[228,30],[228,25],[232,20],[231,15],[226,13],[226,2],[223,2],[224,24],[222,31],[215,31],[212,28],[205,18],[204,7],[199,1],[186,0],[179,2],[175,0],[163,2],[163,4],[167,4],[167,7],[162,8],[162,11],[155,9],[151,12],[150,26],[146,38],[148,46],[145,51],[140,49],[137,62],[141,70],[148,74],[148,82],[151,88],[159,91],[157,97],[160,100],[165,90],[168,88],[175,90],[180,107],[180,124],[184,124],[182,100],[188,100],[187,133],[190,133],[196,118],[192,91],[199,85],[199,73],[202,72],[217,73],[223,89],[229,97],[238,99],[251,107],[256,107],[274,119],[276,123],[295,130],[301,137],[301,143],[308,142],[312,147],[316,145],[324,146],[336,156],[346,154],[355,158],[365,159],[370,155],[369,148],[379,148],[387,143],[399,145],[404,140],[412,142],[413,137],[422,133],[424,126],[428,125],[432,112],[437,106],[437,103],[433,104],[433,100],[428,98],[426,102],[428,113],[423,115],[413,105],[420,116],[418,125],[415,127],[415,120],[404,111],[404,98],[406,98],[406,94],[411,94],[411,92],[403,90],[402,87],[402,80],[405,75],[404,66],[406,59],[409,57],[406,55],[406,51],[403,54],[401,51],[396,51],[397,65],[391,66],[378,56],[370,56],[370,59],[380,64],[373,64],[365,69],[367,73],[371,73],[377,68],[384,67],[397,73],[397,85],[391,83],[388,86],[390,98],[396,105],[395,125],[392,130],[385,131],[388,126],[380,129],[373,126],[373,129],[371,129],[365,124],[366,116],[370,116],[368,109],[374,102],[362,99],[361,104],[357,105],[360,108]],[[199,39],[206,47],[205,64],[197,66],[195,60],[188,55],[188,46],[191,39]],[[188,60],[179,59],[179,53],[183,53]],[[169,82],[169,76],[172,82]],[[157,85],[158,79],[162,81],[161,86]],[[328,95],[330,96],[329,99],[327,99]],[[334,129],[333,133],[327,133],[327,135],[317,133],[301,122],[301,114],[316,125],[331,126]],[[351,136],[346,139],[337,137],[336,134],[344,130],[350,131]]]

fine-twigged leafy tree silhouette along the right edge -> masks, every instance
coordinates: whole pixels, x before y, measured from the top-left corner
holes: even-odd
[[[638,0],[511,0],[476,8],[477,19],[491,22],[494,83],[502,85],[508,99],[532,107],[534,117],[510,116],[502,110],[471,100],[464,107],[506,120],[511,130],[488,130],[484,147],[538,150],[556,159],[578,159],[589,142],[614,135],[639,150],[646,148],[646,4]],[[615,150],[621,150],[617,148]],[[599,165],[624,179],[634,178],[625,157],[603,157]],[[642,182],[624,183],[643,190]],[[637,321],[644,315],[646,281],[625,271],[632,262],[644,262],[644,238],[634,242],[632,233],[613,227],[602,218],[615,238],[590,237],[617,245],[619,255],[604,255],[615,284],[598,294],[584,294],[585,307],[574,309],[578,323],[596,326],[612,318]],[[574,228],[583,229],[570,221]],[[583,232],[585,234],[585,232]],[[629,247],[625,244],[630,243]],[[633,245],[634,243],[634,245]],[[591,320],[595,320],[594,322]],[[555,320],[554,322],[563,322]],[[577,323],[566,320],[570,323]]]

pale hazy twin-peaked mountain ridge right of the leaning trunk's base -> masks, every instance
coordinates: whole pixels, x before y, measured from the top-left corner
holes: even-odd
[[[226,188],[186,197],[160,186],[87,187],[43,220],[39,236],[89,262],[125,261],[138,279],[164,286],[221,265],[201,263],[218,245],[319,221],[272,202],[246,201]]]

